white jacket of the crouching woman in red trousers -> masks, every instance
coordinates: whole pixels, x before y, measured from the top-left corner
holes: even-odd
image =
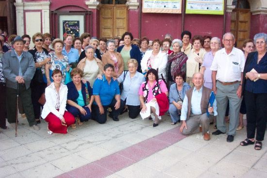
[[[57,96],[55,91],[55,84],[52,82],[45,91],[46,96],[46,103],[44,105],[41,117],[45,119],[49,113],[55,114],[59,119],[61,119],[66,110],[66,103],[67,103],[67,85],[62,84],[62,87],[59,91],[59,101],[60,101],[60,108],[59,111],[56,110],[56,103],[57,103]]]

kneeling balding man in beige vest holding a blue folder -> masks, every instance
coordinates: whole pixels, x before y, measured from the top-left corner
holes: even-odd
[[[212,90],[203,86],[203,74],[195,73],[192,81],[194,88],[186,92],[182,105],[180,131],[184,135],[188,135],[195,132],[201,125],[203,139],[210,140],[210,120],[207,115],[207,108],[209,113],[214,112],[214,115],[217,115],[216,101],[214,101],[213,106],[209,106]]]

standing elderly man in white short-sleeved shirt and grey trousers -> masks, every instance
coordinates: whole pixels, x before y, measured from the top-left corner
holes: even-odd
[[[210,67],[212,70],[213,91],[216,96],[218,105],[217,130],[213,135],[226,133],[224,116],[227,102],[230,106],[230,124],[227,132],[227,142],[234,141],[235,129],[239,122],[239,110],[241,106],[242,76],[245,65],[244,53],[234,48],[234,35],[227,32],[223,35],[222,43],[224,48],[217,51],[213,63]]]

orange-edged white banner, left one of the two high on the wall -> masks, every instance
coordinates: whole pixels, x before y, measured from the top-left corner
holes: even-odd
[[[181,14],[182,0],[143,0],[143,13]]]

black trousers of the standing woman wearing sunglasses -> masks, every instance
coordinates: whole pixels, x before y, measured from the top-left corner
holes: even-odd
[[[31,83],[31,91],[32,91],[32,103],[33,103],[33,112],[34,112],[34,118],[39,119],[41,115],[41,105],[38,100],[42,96],[43,93],[45,93],[45,89],[47,87],[47,83],[37,83],[32,82]]]

